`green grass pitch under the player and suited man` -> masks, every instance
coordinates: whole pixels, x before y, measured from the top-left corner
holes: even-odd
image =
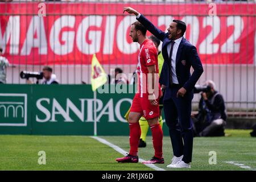
[[[191,169],[183,170],[248,170],[225,163],[234,161],[256,169],[256,138],[250,130],[226,130],[230,137],[195,138]],[[101,137],[129,151],[129,137]],[[0,135],[0,170],[151,170],[141,163],[118,164],[122,156],[90,137]],[[46,152],[46,165],[38,164],[38,152]],[[209,151],[216,151],[217,164],[210,165]],[[169,137],[163,139],[165,164],[156,166],[166,170],[172,158]],[[147,147],[139,149],[139,157],[150,159],[154,155],[151,137]]]

